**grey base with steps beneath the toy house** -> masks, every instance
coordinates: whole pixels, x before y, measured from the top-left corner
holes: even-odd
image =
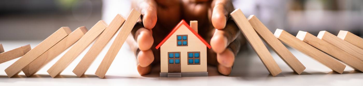
[[[181,72],[181,73],[160,73],[160,77],[180,78],[180,77],[207,77],[208,72]]]

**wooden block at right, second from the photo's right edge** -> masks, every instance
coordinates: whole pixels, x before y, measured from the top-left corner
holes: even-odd
[[[354,46],[343,39],[338,38],[337,36],[327,32],[327,31],[320,31],[318,34],[319,39],[323,39],[326,42],[333,44],[335,47],[350,53],[351,55],[357,57],[360,60],[363,60],[363,50],[357,46]]]

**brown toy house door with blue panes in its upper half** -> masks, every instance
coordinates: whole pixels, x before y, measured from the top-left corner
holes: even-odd
[[[168,72],[181,72],[180,52],[168,52]]]

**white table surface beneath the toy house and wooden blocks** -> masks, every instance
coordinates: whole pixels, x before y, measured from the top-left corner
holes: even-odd
[[[114,38],[105,47],[107,50],[113,42]],[[34,48],[42,40],[18,40],[8,41],[0,40],[5,51],[30,44]],[[120,52],[116,56],[114,62],[106,73],[106,79],[100,79],[94,75],[98,65],[102,61],[102,57],[106,55],[107,50],[103,50],[94,63],[85,73],[86,76],[78,78],[73,74],[72,70],[77,63],[89,50],[86,48],[57,78],[52,78],[46,70],[50,68],[65,52],[57,56],[54,60],[44,66],[36,75],[25,77],[24,73],[19,73],[19,76],[8,78],[3,71],[17,59],[0,64],[0,86],[65,86],[65,85],[87,85],[87,86],[160,86],[160,85],[182,85],[182,86],[240,86],[240,85],[314,85],[314,86],[362,86],[363,73],[355,71],[349,66],[346,67],[343,74],[332,72],[331,69],[311,59],[310,57],[300,53],[292,48],[289,50],[305,65],[306,69],[301,75],[293,72],[287,64],[272,50],[272,56],[280,66],[282,73],[276,77],[272,77],[256,53],[251,50],[238,53],[232,73],[229,76],[219,74],[214,66],[208,66],[209,77],[182,77],[182,78],[165,78],[159,77],[160,68],[155,67],[152,72],[146,76],[140,76],[136,69],[136,59],[130,47],[125,43]],[[68,48],[69,49],[69,48]],[[68,50],[66,50],[68,51]],[[18,58],[19,59],[19,58]],[[363,65],[363,64],[362,64]]]

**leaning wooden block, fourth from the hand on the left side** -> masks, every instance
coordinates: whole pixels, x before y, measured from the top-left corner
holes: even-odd
[[[48,51],[44,52],[32,63],[25,66],[22,70],[26,77],[33,75],[38,72],[44,65],[48,64],[55,57],[61,54],[72,44],[76,43],[79,38],[81,38],[88,30],[86,28],[78,28],[70,33],[68,36],[59,41],[56,45],[50,48]]]

